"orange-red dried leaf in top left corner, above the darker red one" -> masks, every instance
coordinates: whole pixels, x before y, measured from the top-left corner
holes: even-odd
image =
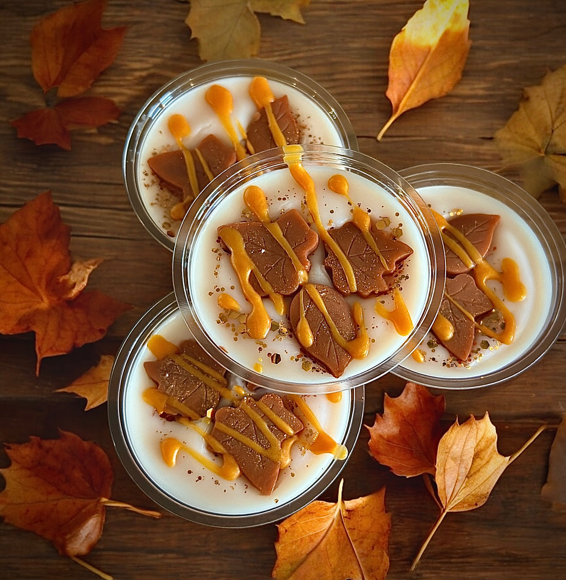
[[[126,28],[101,28],[106,4],[107,0],[74,3],[34,26],[31,68],[43,92],[56,86],[59,97],[80,95],[114,62]]]

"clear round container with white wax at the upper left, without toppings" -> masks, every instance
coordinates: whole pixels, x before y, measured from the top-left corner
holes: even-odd
[[[262,60],[229,60],[204,64],[179,75],[158,89],[141,107],[126,137],[122,172],[128,197],[147,231],[166,248],[173,249],[180,222],[170,218],[178,202],[159,186],[157,176],[147,164],[148,158],[179,148],[169,132],[172,114],[183,114],[191,133],[183,140],[189,149],[201,140],[216,135],[229,144],[226,129],[206,103],[205,92],[211,85],[222,85],[233,95],[235,127],[246,127],[257,108],[249,96],[254,77],[269,82],[275,98],[287,95],[289,107],[302,128],[303,143],[324,143],[357,149],[354,130],[340,104],[322,86],[309,77],[281,64]]]

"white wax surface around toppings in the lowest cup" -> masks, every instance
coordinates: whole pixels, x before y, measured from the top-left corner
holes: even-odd
[[[159,322],[153,333],[175,344],[191,338],[179,310]],[[281,471],[277,487],[269,496],[261,495],[245,477],[223,480],[183,451],[179,451],[175,467],[168,467],[162,459],[159,443],[169,436],[210,459],[215,458],[193,429],[161,419],[153,407],[143,401],[143,391],[155,386],[143,367],[143,362],[148,360],[155,360],[155,357],[145,344],[140,345],[124,387],[125,437],[141,470],[165,494],[180,503],[216,514],[265,512],[313,487],[335,461],[332,455],[314,455],[310,451],[302,454],[297,445],[293,446],[292,461]],[[235,384],[241,385],[241,382]],[[344,393],[339,403],[331,403],[324,395],[307,396],[306,401],[326,432],[338,443],[343,442],[353,410],[350,394]]]

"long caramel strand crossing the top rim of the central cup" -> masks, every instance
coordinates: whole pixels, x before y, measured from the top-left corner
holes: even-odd
[[[355,292],[357,290],[357,284],[355,282],[354,270],[346,254],[342,251],[342,248],[340,248],[336,241],[333,240],[331,235],[322,225],[314,181],[301,162],[302,154],[304,152],[303,147],[300,145],[286,145],[283,149],[283,161],[288,165],[293,179],[295,179],[297,184],[299,184],[306,193],[307,208],[309,208],[311,218],[318,229],[318,234],[332,252],[335,253],[336,258],[338,258],[340,266],[342,266],[344,274],[346,275],[350,292]]]

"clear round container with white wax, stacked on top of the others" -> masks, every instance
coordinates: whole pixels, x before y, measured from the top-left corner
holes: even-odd
[[[264,300],[264,304],[273,321],[271,331],[264,340],[251,339],[245,331],[238,330],[238,324],[233,324],[235,321],[225,320],[217,302],[217,295],[227,292],[241,305],[242,313],[249,311],[230,257],[217,239],[217,228],[242,219],[243,193],[249,185],[260,187],[266,194],[270,219],[277,219],[289,209],[297,209],[307,223],[311,221],[304,190],[289,171],[288,151],[274,148],[235,164],[222,179],[213,180],[193,202],[173,251],[173,287],[177,302],[201,346],[244,380],[274,391],[299,394],[330,393],[360,386],[396,367],[429,331],[444,289],[444,250],[440,233],[420,197],[390,168],[356,151],[304,146],[301,163],[314,180],[318,208],[326,229],[328,224],[340,227],[351,220],[351,204],[372,212],[376,220],[390,219],[391,227],[401,227],[401,240],[413,250],[405,260],[402,282],[402,297],[413,328],[407,336],[401,336],[391,322],[376,313],[376,300],[383,300],[382,296],[347,296],[350,308],[354,302],[362,306],[371,345],[368,356],[351,360],[339,378],[321,370],[320,365],[304,364],[285,313],[277,314],[269,300]],[[329,189],[328,178],[333,175],[346,177],[350,199]],[[331,285],[323,260],[324,244],[321,242],[310,257],[309,282]],[[387,300],[390,298],[386,296]],[[386,307],[391,309],[392,303]],[[274,364],[273,356],[277,354],[279,357],[275,357]]]

